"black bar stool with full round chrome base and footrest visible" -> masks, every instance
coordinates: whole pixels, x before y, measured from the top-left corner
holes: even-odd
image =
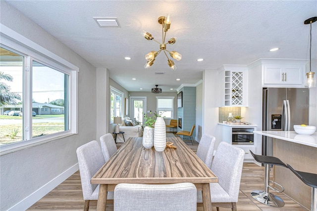
[[[284,188],[274,182],[274,181],[269,181],[269,165],[280,165],[280,166],[284,166],[287,168],[286,164],[283,163],[279,158],[275,158],[275,157],[271,157],[271,156],[260,156],[260,155],[255,155],[253,152],[251,152],[250,150],[250,153],[252,154],[253,158],[258,161],[258,162],[261,162],[264,164],[264,191],[261,191],[261,190],[255,190],[255,191],[252,191],[251,192],[251,196],[257,200],[258,202],[264,204],[264,205],[267,205],[267,206],[270,206],[270,207],[275,207],[275,208],[280,208],[280,207],[283,207],[284,206],[284,201],[279,198],[278,196],[274,195],[274,194],[271,194],[268,192],[268,188],[278,192],[278,193],[282,193],[284,191]],[[269,183],[274,183],[276,185],[278,185],[279,187],[281,187],[281,191],[272,187],[272,186],[269,186]]]

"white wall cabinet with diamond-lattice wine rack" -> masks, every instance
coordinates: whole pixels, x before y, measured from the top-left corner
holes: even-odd
[[[220,70],[220,106],[248,106],[248,69],[246,65],[224,65]]]

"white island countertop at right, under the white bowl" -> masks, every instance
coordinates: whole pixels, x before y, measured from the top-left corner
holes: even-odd
[[[253,133],[317,148],[317,132],[300,135],[295,131],[253,131]]]

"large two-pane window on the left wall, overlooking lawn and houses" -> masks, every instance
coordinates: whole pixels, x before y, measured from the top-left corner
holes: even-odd
[[[1,37],[1,152],[77,133],[78,69],[37,51]]]

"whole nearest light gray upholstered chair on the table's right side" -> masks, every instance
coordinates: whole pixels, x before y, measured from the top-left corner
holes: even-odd
[[[213,207],[231,208],[236,211],[244,151],[231,144],[220,142],[214,155],[211,171],[218,177],[218,183],[210,183]],[[197,202],[202,203],[202,192],[197,192]]]

